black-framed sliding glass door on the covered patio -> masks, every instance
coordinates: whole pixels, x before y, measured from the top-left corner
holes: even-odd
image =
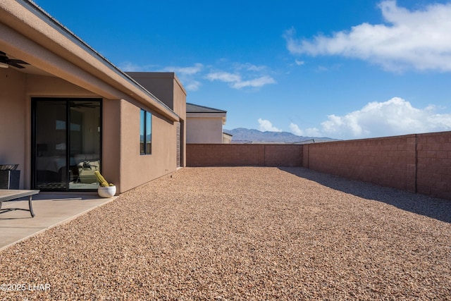
[[[97,189],[101,99],[32,98],[32,187]]]

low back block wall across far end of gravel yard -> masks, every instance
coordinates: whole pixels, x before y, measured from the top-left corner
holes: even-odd
[[[187,166],[302,166],[302,145],[187,144]]]

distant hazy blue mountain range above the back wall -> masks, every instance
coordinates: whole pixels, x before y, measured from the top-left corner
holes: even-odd
[[[261,130],[249,130],[248,128],[234,128],[223,130],[224,133],[233,135],[232,143],[272,142],[272,143],[311,143],[335,141],[329,137],[304,137],[288,132],[261,132]]]

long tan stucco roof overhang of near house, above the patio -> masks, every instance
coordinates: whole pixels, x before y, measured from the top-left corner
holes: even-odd
[[[32,1],[0,1],[0,50],[107,99],[135,99],[179,116]]]

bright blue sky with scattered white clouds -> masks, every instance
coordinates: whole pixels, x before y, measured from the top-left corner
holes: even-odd
[[[451,130],[451,1],[36,3],[122,70],[175,71],[227,129]]]

